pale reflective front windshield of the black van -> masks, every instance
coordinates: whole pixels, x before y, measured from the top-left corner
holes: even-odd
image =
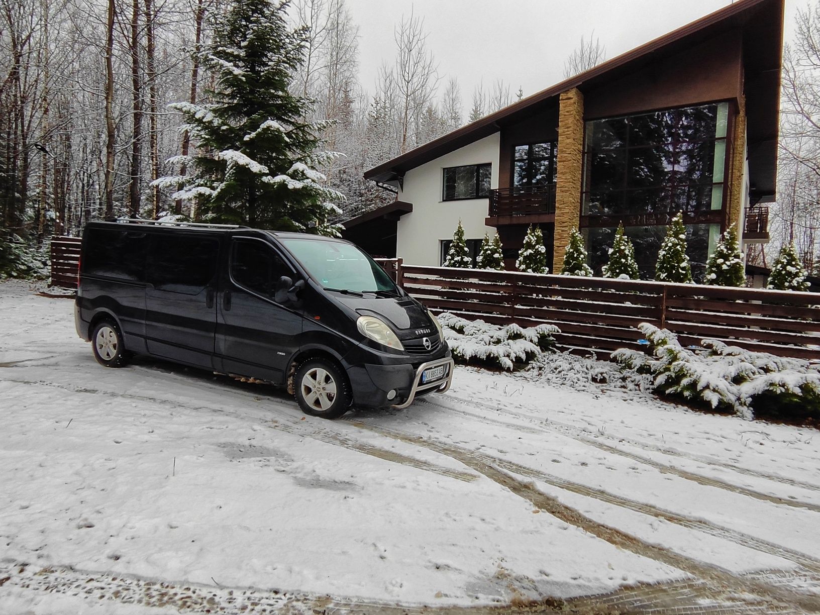
[[[280,241],[325,289],[398,294],[393,280],[378,263],[352,244],[292,237]]]

